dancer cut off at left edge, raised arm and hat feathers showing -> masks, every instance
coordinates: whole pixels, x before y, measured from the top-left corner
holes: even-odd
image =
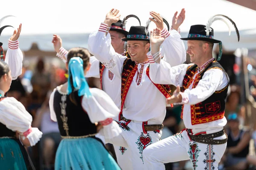
[[[8,20],[10,17],[15,17],[13,15],[7,15],[0,19],[0,35],[4,28],[7,27],[13,27],[13,26],[2,26],[3,21]],[[11,70],[11,76],[12,80],[17,79],[18,76],[20,76],[22,72],[22,60],[23,60],[23,54],[19,48],[19,41],[18,38],[20,37],[20,31],[21,31],[21,24],[19,25],[19,28],[14,31],[12,37],[8,40],[8,49],[6,52],[6,55],[4,54],[2,45],[3,43],[0,42],[0,59],[5,61]]]

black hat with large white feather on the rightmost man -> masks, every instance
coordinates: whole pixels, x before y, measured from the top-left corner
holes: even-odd
[[[214,31],[213,28],[211,27],[212,23],[221,20],[223,21],[227,27],[229,28],[229,35],[231,33],[230,25],[227,22],[229,20],[233,26],[235,27],[236,30],[236,35],[238,38],[238,41],[240,40],[240,35],[238,28],[236,27],[236,23],[231,20],[229,17],[221,14],[214,15],[213,17],[210,17],[206,26],[205,25],[193,25],[190,27],[189,30],[189,35],[187,38],[181,38],[181,40],[201,40],[201,41],[207,41],[207,42],[212,42],[212,43],[219,43],[219,54],[218,54],[218,61],[221,59],[222,55],[222,42],[220,40],[215,40],[214,37]]]

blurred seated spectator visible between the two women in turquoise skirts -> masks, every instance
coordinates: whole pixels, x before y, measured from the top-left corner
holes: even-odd
[[[54,122],[50,117],[49,96],[52,91],[48,92],[47,98],[38,109],[32,126],[38,127],[43,136],[40,140],[39,154],[42,154],[45,164],[44,170],[51,170],[54,166],[55,153],[61,142],[61,135],[58,129],[58,122]]]

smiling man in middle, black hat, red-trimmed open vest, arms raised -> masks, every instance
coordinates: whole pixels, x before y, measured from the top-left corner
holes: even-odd
[[[90,34],[88,49],[121,80],[121,113],[118,123],[123,132],[121,136],[106,142],[128,147],[131,150],[132,169],[143,169],[145,168],[143,150],[149,144],[159,141],[161,137],[162,123],[166,113],[165,100],[170,96],[171,91],[169,85],[154,84],[148,77],[148,65],[151,61],[146,55],[150,50],[146,27],[131,26],[127,37],[122,39],[127,42],[127,51],[131,59],[113,50],[108,30],[112,23],[119,20],[118,12],[112,9],[107,14],[104,23],[101,24],[99,31]],[[156,21],[163,20],[158,18],[159,14],[153,12],[151,14],[155,15]],[[179,21],[173,27],[178,28],[184,18],[185,11],[183,10]],[[169,52],[166,53],[169,56],[166,55],[163,59],[170,63],[184,62],[186,53],[179,33],[176,30],[162,33],[167,37],[163,48],[166,47],[165,51]],[[122,115],[126,119],[122,119]]]

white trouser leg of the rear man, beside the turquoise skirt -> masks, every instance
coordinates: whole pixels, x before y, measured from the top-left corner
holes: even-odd
[[[116,153],[116,159],[122,170],[132,170],[131,150],[128,147],[113,145]]]

